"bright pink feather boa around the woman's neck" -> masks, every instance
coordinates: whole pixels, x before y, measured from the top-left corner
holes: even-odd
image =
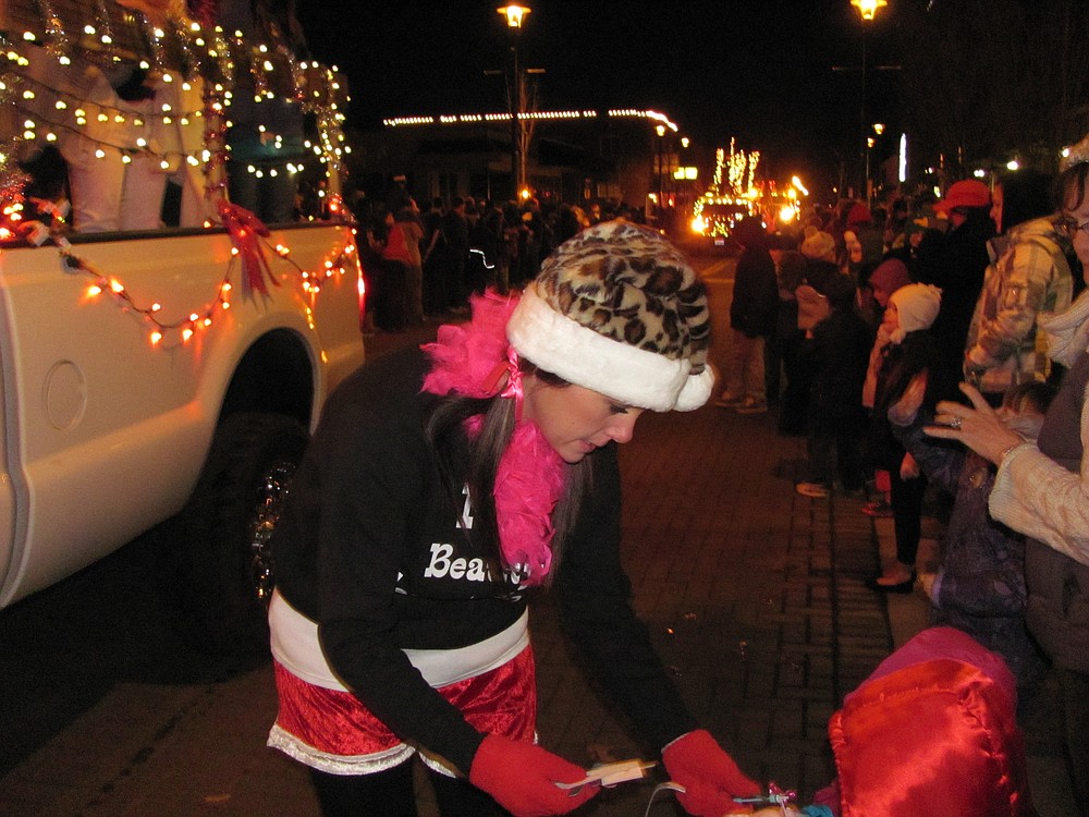
[[[552,566],[552,511],[563,492],[564,462],[536,423],[521,419],[517,354],[506,340],[506,324],[518,296],[503,297],[489,290],[473,296],[470,304],[473,318],[468,324],[442,326],[436,342],[424,345],[432,364],[424,378],[424,391],[489,398],[500,393],[502,376],[507,375],[502,397],[517,401],[518,423],[495,474],[499,542],[506,566],[524,585],[536,585]],[[466,428],[470,438],[476,438],[482,424],[482,415],[469,418]]]

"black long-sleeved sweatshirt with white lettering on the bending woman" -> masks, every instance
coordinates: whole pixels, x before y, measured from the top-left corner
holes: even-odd
[[[477,643],[516,621],[526,592],[466,528],[424,434],[418,349],[367,363],[338,387],[292,483],[272,549],[278,588],[317,622],[341,682],[399,737],[468,771],[482,740],[402,648]],[[603,688],[661,747],[695,728],[631,603],[620,558],[616,447],[596,451],[594,487],[554,587],[572,639]],[[461,484],[463,480],[455,479]],[[465,570],[454,571],[458,560]]]

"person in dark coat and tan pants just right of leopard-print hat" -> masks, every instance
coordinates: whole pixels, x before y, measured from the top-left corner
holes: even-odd
[[[775,263],[768,252],[767,235],[758,218],[737,223],[734,236],[744,247],[734,273],[730,305],[730,367],[726,390],[715,405],[738,414],[768,411],[764,392],[763,344],[775,331],[779,283]]]

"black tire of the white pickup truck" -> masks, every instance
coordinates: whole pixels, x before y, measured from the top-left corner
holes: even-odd
[[[306,448],[298,420],[235,414],[220,423],[175,532],[181,631],[201,651],[269,656],[269,540]]]

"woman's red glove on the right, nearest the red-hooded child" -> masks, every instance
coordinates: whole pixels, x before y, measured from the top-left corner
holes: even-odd
[[[677,737],[662,751],[662,760],[670,780],[685,788],[677,800],[696,817],[742,810],[734,797],[760,794],[759,784],[742,773],[706,729]]]

